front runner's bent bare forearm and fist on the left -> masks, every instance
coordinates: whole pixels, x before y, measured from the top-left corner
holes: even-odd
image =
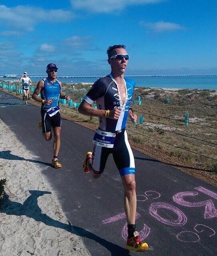
[[[78,112],[86,116],[105,116],[106,110],[96,109],[92,107],[88,102],[83,100],[78,107]],[[110,110],[108,117],[110,119],[117,120],[120,114],[121,110],[118,108],[114,108],[113,110]]]

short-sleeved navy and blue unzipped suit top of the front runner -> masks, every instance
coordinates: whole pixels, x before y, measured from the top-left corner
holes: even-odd
[[[120,108],[122,110],[118,120],[112,120],[106,117],[99,117],[100,130],[106,132],[117,132],[126,128],[129,106],[133,98],[133,89],[135,82],[131,79],[124,78],[126,99],[122,105],[119,89],[115,79],[111,74],[98,79],[88,91],[84,100],[89,104],[96,101],[97,108],[102,110],[113,110]]]

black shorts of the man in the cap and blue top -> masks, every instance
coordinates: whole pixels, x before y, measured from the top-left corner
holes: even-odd
[[[41,109],[42,116],[42,131],[44,133],[50,132],[51,127],[61,127],[61,116],[60,112],[57,112],[54,116],[49,116],[46,110]]]

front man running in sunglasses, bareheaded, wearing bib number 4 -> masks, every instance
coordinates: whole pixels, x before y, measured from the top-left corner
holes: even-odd
[[[143,251],[148,249],[148,245],[141,241],[135,229],[135,163],[125,131],[128,116],[132,122],[137,120],[130,108],[135,82],[123,77],[129,60],[125,45],[110,46],[107,54],[111,73],[94,83],[78,108],[81,114],[98,116],[100,122],[94,135],[93,152],[87,153],[83,169],[85,173],[91,172],[95,179],[99,178],[105,169],[108,155],[113,154],[124,187],[128,229],[126,248]],[[91,106],[94,101],[97,109]]]

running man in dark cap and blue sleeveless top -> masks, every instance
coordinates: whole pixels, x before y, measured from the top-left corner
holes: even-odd
[[[42,103],[42,133],[46,140],[52,139],[51,128],[54,132],[54,156],[52,166],[54,168],[61,168],[62,165],[58,160],[58,153],[60,150],[60,130],[61,130],[61,116],[59,108],[59,98],[70,100],[70,97],[64,95],[61,90],[62,83],[56,79],[58,68],[55,64],[47,65],[46,73],[48,77],[38,82],[32,98],[37,102]],[[41,93],[41,98],[38,94]]]

